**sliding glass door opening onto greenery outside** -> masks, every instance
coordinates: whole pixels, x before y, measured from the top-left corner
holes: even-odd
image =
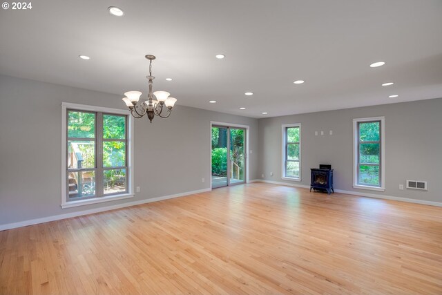
[[[212,126],[212,188],[245,182],[245,129]]]

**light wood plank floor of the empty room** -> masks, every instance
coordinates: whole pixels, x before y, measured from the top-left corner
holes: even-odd
[[[442,208],[254,183],[0,231],[0,294],[442,294]]]

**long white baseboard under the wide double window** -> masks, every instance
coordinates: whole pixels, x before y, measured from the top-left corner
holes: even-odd
[[[133,202],[126,202],[126,203],[122,203],[122,204],[115,204],[115,205],[106,206],[106,207],[99,207],[96,209],[88,209],[88,210],[76,211],[76,212],[72,212],[72,213],[55,215],[55,216],[48,216],[48,217],[44,217],[44,218],[36,218],[36,219],[31,219],[31,220],[13,222],[13,223],[8,223],[6,225],[0,225],[0,231],[4,231],[6,229],[15,229],[17,227],[26,227],[28,225],[37,225],[39,223],[61,220],[61,219],[66,219],[66,218],[72,218],[72,217],[77,217],[77,216],[83,216],[83,215],[88,215],[88,214],[92,214],[92,213],[99,213],[99,212],[103,212],[103,211],[120,209],[120,208],[124,208],[124,207],[131,207],[131,206],[140,205],[140,204],[147,204],[147,203],[151,203],[151,202],[179,198],[179,197],[193,195],[195,193],[204,193],[206,191],[211,191],[211,189],[210,188],[198,189],[197,191],[186,191],[185,193],[175,193],[175,194],[169,195],[169,196],[162,196],[162,197],[157,197],[157,198],[144,199],[144,200],[133,201]]]

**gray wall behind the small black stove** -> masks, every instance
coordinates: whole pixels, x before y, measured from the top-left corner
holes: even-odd
[[[265,180],[310,184],[310,168],[332,164],[334,188],[399,198],[442,202],[442,98],[348,108],[259,120],[258,175]],[[354,118],[385,116],[385,192],[353,189]],[[301,123],[302,182],[281,180],[281,125]],[[333,135],[329,135],[329,131]],[[324,135],[315,135],[324,131]],[[273,177],[270,173],[273,172]],[[405,189],[405,180],[424,180],[428,191]],[[398,189],[404,184],[404,190]]]

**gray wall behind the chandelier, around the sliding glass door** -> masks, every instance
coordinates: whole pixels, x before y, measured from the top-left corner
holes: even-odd
[[[0,225],[209,188],[210,121],[250,126],[258,178],[258,120],[178,101],[168,119],[135,120],[135,198],[61,209],[61,102],[124,108],[119,95],[0,75]]]

